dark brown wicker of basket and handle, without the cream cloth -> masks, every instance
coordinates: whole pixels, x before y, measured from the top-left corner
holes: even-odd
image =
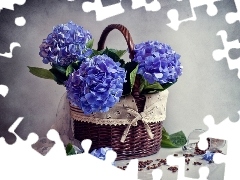
[[[105,40],[109,32],[114,29],[119,30],[123,34],[128,45],[130,53],[129,57],[132,60],[134,57],[134,44],[127,28],[120,24],[111,24],[104,29],[98,42],[98,50],[104,49]],[[137,76],[131,97],[135,100],[133,101],[137,107],[138,113],[141,113],[143,112],[146,100],[148,99],[146,96],[139,93],[139,87],[140,77]],[[162,106],[166,107],[166,103]],[[165,107],[163,107],[164,110],[166,110]],[[88,118],[87,116],[84,121],[81,119],[81,117],[84,117],[83,112],[71,104],[70,114],[72,117],[74,138],[79,141],[82,141],[84,139],[91,139],[92,146],[90,151],[101,147],[111,147],[117,153],[116,160],[127,160],[155,154],[161,148],[162,121],[148,123],[147,130],[146,123],[143,121],[138,121],[137,126],[133,125],[131,128],[129,128],[127,136],[125,136],[125,141],[121,142],[123,133],[126,131],[126,127],[128,126],[127,124],[97,124],[86,121]],[[163,117],[165,117],[165,114],[163,114]],[[152,138],[149,137],[149,131],[151,131],[153,134]]]

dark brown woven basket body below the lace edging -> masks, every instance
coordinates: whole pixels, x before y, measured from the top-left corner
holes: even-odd
[[[162,122],[149,124],[154,134],[149,139],[142,122],[131,127],[124,143],[120,142],[126,126],[96,125],[74,121],[74,137],[80,141],[91,139],[90,151],[101,147],[111,147],[117,153],[117,160],[128,160],[156,154],[160,150],[162,140]]]

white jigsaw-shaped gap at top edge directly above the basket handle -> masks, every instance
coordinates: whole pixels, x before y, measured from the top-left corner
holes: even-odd
[[[124,9],[121,5],[121,0],[119,3],[103,6],[101,0],[95,0],[94,2],[84,2],[82,4],[82,9],[84,12],[95,11],[96,21],[102,21],[107,18],[124,13]]]

